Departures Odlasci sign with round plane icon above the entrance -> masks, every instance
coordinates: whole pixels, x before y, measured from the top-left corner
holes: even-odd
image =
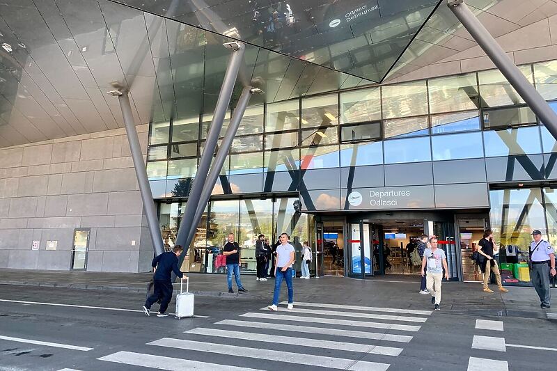
[[[343,189],[345,210],[422,209],[435,207],[432,186]]]

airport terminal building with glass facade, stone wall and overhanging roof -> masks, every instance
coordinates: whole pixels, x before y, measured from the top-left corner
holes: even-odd
[[[557,2],[464,3],[557,111]],[[255,273],[257,236],[287,232],[317,276],[406,275],[425,233],[478,281],[491,228],[503,281],[527,284],[532,230],[557,246],[556,139],[459,18],[446,0],[5,1],[0,267],[148,271],[182,228],[182,271],[223,273],[233,232]]]

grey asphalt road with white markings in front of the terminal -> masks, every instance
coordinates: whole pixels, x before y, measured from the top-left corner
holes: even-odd
[[[314,294],[278,313],[259,298],[196,297],[203,317],[176,320],[146,317],[143,294],[3,285],[0,370],[556,368],[547,319],[434,312],[419,294],[364,293],[355,308]]]

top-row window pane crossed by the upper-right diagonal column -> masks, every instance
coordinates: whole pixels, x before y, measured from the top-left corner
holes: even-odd
[[[533,83],[531,65],[521,65],[519,69],[526,79]],[[478,72],[478,79],[483,107],[510,106],[512,104],[524,103],[517,90],[510,86],[499,70]]]

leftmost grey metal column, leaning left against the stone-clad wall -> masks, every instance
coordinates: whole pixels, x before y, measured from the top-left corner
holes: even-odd
[[[164,246],[162,244],[161,230],[159,229],[157,208],[152,200],[151,187],[147,177],[145,162],[143,161],[143,153],[141,153],[141,145],[139,144],[139,136],[137,136],[134,116],[132,115],[130,97],[128,97],[127,93],[122,93],[118,90],[111,91],[109,94],[118,97],[118,102],[120,102],[120,109],[122,109],[122,116],[124,118],[126,128],[127,141],[130,143],[130,151],[132,152],[132,159],[134,161],[135,174],[137,177],[137,183],[139,184],[139,192],[141,193],[141,200],[143,201],[143,210],[145,210],[149,234],[151,236],[152,248],[153,251],[155,251],[155,255],[160,255],[164,253]]]

